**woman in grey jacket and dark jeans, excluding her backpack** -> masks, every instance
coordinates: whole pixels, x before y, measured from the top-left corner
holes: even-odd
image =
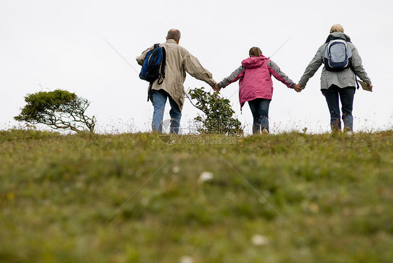
[[[353,126],[352,105],[355,95],[356,79],[355,75],[363,80],[372,90],[371,80],[367,76],[362,66],[362,59],[355,45],[350,43],[350,37],[344,34],[344,29],[340,24],[334,24],[330,29],[330,34],[326,43],[320,46],[313,60],[308,64],[306,71],[299,81],[301,89],[306,87],[308,80],[314,76],[315,72],[324,63],[325,50],[329,41],[333,39],[342,39],[348,43],[352,51],[352,65],[341,71],[328,71],[322,68],[321,91],[327,101],[330,111],[331,131],[341,131],[340,106],[338,98],[341,100],[341,110],[343,111],[344,131],[351,131]],[[300,91],[296,89],[296,91]]]

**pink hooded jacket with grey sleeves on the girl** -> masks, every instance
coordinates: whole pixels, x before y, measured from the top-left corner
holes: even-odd
[[[288,78],[276,63],[269,58],[261,55],[260,57],[249,57],[241,62],[241,66],[232,72],[230,76],[224,78],[219,87],[227,87],[227,85],[239,80],[239,101],[241,108],[245,101],[254,99],[271,99],[273,96],[273,81],[271,75],[280,80],[287,87],[293,88],[295,83]]]

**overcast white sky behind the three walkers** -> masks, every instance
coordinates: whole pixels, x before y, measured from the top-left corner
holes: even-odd
[[[13,116],[24,106],[26,94],[64,89],[92,101],[88,115],[96,115],[99,132],[150,131],[148,83],[103,38],[139,71],[135,57],[164,42],[169,29],[180,29],[180,45],[216,81],[240,66],[252,46],[269,57],[290,38],[272,59],[297,83],[336,23],[357,46],[374,86],[372,93],[355,94],[354,130],[392,129],[392,10],[390,0],[0,0],[0,129],[17,125]],[[320,71],[299,94],[274,81],[271,131],[329,131]],[[201,86],[208,87],[187,76],[186,90]],[[234,83],[222,94],[231,99],[250,133],[250,108],[245,105],[241,114],[237,90]],[[167,104],[164,119],[169,108]],[[186,101],[182,127],[197,113]]]

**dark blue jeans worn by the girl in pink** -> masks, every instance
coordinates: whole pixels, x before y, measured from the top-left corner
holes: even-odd
[[[261,129],[269,131],[269,105],[270,99],[253,99],[248,101],[252,118],[252,134],[259,134]]]

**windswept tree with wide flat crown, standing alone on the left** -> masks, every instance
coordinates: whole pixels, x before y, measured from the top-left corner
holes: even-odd
[[[85,112],[90,101],[66,90],[36,92],[24,97],[26,106],[15,120],[33,125],[41,123],[52,129],[82,132],[94,131],[96,118],[87,117]]]

